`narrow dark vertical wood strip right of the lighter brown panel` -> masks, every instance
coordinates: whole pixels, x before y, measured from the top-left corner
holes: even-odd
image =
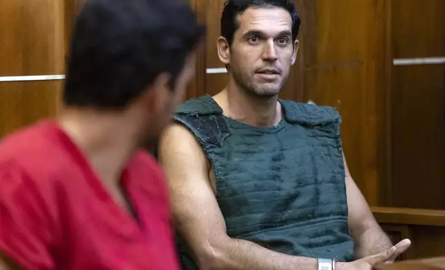
[[[381,173],[380,205],[392,205],[392,0],[385,0],[385,164]]]

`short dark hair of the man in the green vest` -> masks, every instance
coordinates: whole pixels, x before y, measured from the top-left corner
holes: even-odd
[[[292,40],[296,40],[300,29],[300,17],[296,12],[292,0],[226,0],[221,16],[221,36],[227,39],[229,45],[234,41],[235,31],[240,26],[238,15],[243,14],[247,8],[283,8],[292,18]]]

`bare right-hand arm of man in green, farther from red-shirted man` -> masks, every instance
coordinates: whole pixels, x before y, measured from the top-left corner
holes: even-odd
[[[357,259],[385,251],[392,247],[392,243],[372,215],[368,203],[366,203],[363,194],[361,194],[361,191],[350,175],[345,160],[344,164],[346,194],[348,197],[349,209],[348,225],[351,231],[351,236],[354,238],[354,242],[357,245]],[[408,249],[409,246],[409,240],[400,242],[397,246],[399,250],[390,261],[395,260],[395,258]]]

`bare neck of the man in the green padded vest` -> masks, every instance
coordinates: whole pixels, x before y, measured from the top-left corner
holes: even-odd
[[[227,117],[254,127],[273,127],[283,117],[278,96],[265,98],[240,90],[234,82],[214,96]]]

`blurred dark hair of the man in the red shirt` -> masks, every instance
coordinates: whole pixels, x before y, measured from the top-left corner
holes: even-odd
[[[89,0],[75,23],[64,103],[120,109],[163,72],[173,89],[204,34],[182,0]]]

